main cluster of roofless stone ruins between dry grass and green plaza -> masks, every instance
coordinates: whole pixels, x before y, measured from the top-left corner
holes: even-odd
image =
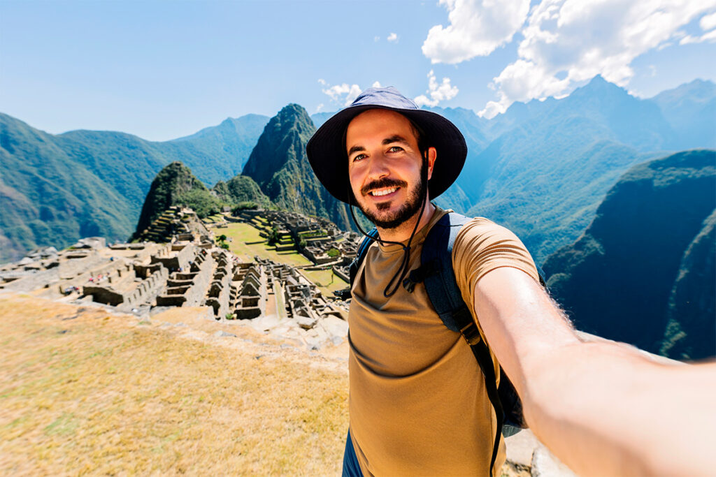
[[[177,208],[167,212],[179,222],[191,214]],[[326,299],[295,267],[258,257],[241,262],[216,247],[208,230],[209,235],[187,232],[173,223],[168,243],[107,247],[101,237],[89,237],[68,250],[34,250],[19,262],[0,266],[0,290],[101,303],[137,315],[196,306],[211,307],[216,320],[253,320],[271,312],[304,330],[325,318],[346,318],[344,308]],[[296,221],[287,227],[309,225]]]

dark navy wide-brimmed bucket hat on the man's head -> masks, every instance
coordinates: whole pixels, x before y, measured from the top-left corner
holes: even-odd
[[[410,119],[421,129],[423,140],[437,150],[437,160],[428,182],[430,198],[445,192],[465,164],[468,147],[455,124],[440,114],[417,107],[394,87],[369,88],[347,108],[334,114],[319,127],[306,144],[306,154],[314,173],[328,192],[338,200],[355,204],[348,178],[348,154],[344,134],[349,122],[367,109],[390,109]]]

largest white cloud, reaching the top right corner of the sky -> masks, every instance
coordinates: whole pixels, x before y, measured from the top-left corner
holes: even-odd
[[[515,101],[563,96],[597,74],[626,87],[637,56],[679,39],[716,40],[716,33],[692,39],[679,30],[715,6],[716,0],[542,0],[521,31],[519,58],[493,79],[497,101],[479,114],[493,117]]]

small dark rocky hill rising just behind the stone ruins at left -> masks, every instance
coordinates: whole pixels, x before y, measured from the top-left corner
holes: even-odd
[[[172,162],[160,170],[152,181],[134,237],[139,237],[173,205],[191,207],[199,217],[207,217],[218,212],[222,204],[188,167],[178,161]]]

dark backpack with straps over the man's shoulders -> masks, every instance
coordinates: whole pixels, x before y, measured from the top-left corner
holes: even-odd
[[[477,325],[470,314],[470,308],[463,301],[458,288],[458,282],[455,280],[455,272],[453,271],[453,245],[458,232],[463,225],[472,220],[456,212],[448,212],[440,217],[440,220],[433,225],[432,229],[427,232],[425,243],[422,245],[422,253],[420,255],[420,267],[411,270],[402,285],[408,292],[415,289],[415,285],[419,282],[425,282],[425,290],[432,307],[435,308],[440,320],[450,330],[463,335],[463,338],[470,345],[470,349],[475,355],[475,359],[480,365],[485,376],[485,389],[488,393],[490,403],[495,409],[497,416],[498,431],[495,434],[495,444],[493,446],[492,460],[490,461],[490,475],[497,458],[497,452],[500,444],[500,433],[505,437],[512,436],[524,428],[527,428],[522,413],[522,402],[517,395],[515,387],[502,370],[500,366],[500,385],[496,385],[495,370],[493,361],[490,358],[485,341],[480,338],[480,332]],[[378,237],[378,231],[373,228],[368,232],[369,237],[364,237],[356,252],[356,257],[349,266],[350,287],[347,290],[341,290],[337,296],[347,299],[350,297],[350,290],[353,286],[358,270],[367,255],[371,242]],[[540,282],[546,286],[546,280],[540,267],[537,267]]]

